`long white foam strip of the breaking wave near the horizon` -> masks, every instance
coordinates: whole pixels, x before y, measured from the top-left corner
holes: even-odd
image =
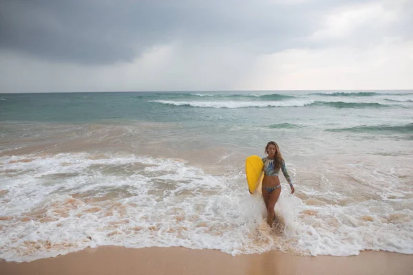
[[[285,101],[173,101],[153,100],[161,104],[175,106],[191,106],[200,108],[248,108],[248,107],[302,107],[313,104],[315,100],[285,100]]]

